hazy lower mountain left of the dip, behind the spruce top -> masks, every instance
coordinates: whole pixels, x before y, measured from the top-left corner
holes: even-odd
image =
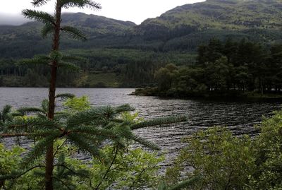
[[[112,45],[118,37],[124,36],[135,26],[104,16],[85,13],[64,13],[62,25],[80,28],[87,36],[86,42],[63,38],[62,49],[90,48]],[[34,54],[47,53],[51,48],[50,37],[42,39],[42,23],[29,22],[23,25],[0,25],[0,57],[32,57]]]

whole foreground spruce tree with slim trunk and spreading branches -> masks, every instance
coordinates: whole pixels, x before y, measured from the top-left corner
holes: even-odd
[[[48,0],[33,0],[32,4],[34,6],[42,6],[47,4],[47,1]],[[23,158],[21,164],[22,170],[0,176],[0,182],[3,182],[5,179],[15,180],[26,172],[30,172],[37,167],[42,167],[42,165],[37,165],[37,161],[45,154],[45,189],[53,190],[55,184],[54,180],[59,180],[58,177],[55,177],[54,167],[59,164],[62,167],[68,168],[66,165],[63,166],[61,159],[54,159],[56,155],[56,152],[54,152],[54,141],[65,139],[65,142],[68,141],[74,146],[78,146],[81,150],[103,159],[99,148],[101,148],[105,141],[111,141],[120,147],[124,147],[125,141],[133,140],[150,148],[158,149],[158,146],[154,145],[154,143],[150,143],[136,136],[132,130],[185,121],[185,117],[168,117],[152,121],[142,121],[140,123],[120,119],[121,113],[133,110],[129,105],[120,107],[95,107],[74,113],[55,112],[56,98],[73,97],[73,95],[70,94],[56,95],[58,68],[77,70],[78,67],[69,61],[83,60],[80,57],[69,57],[59,52],[61,32],[71,35],[71,37],[76,39],[86,39],[78,29],[71,26],[61,26],[61,10],[62,8],[83,8],[85,6],[94,9],[101,8],[99,4],[90,0],[56,0],[56,12],[54,16],[42,11],[23,10],[23,14],[26,18],[44,23],[42,30],[43,37],[46,37],[49,33],[53,34],[53,45],[48,56],[40,55],[35,56],[33,59],[20,61],[20,64],[36,64],[51,67],[49,100],[44,100],[41,107],[23,107],[18,109],[17,112],[11,114],[11,116],[13,115],[11,119],[1,117],[3,123],[1,125],[4,126],[0,134],[1,137],[25,136],[36,139],[37,142],[35,143],[35,147]],[[9,112],[10,109],[11,107],[8,110]],[[30,114],[33,114],[33,116],[30,117]],[[77,174],[78,172],[73,173]],[[56,184],[58,183],[57,181]]]

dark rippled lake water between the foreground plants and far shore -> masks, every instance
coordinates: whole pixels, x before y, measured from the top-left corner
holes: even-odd
[[[59,88],[57,93],[87,95],[92,105],[122,105],[135,107],[140,117],[145,119],[184,114],[189,121],[174,124],[167,128],[151,128],[135,131],[143,138],[159,144],[168,153],[168,160],[183,147],[180,139],[210,126],[228,126],[237,134],[252,133],[254,125],[281,108],[281,102],[219,102],[204,100],[165,100],[157,97],[128,95],[130,88]],[[47,88],[0,88],[0,107],[6,104],[13,107],[38,106],[47,98]],[[7,142],[11,145],[13,142]],[[164,167],[169,164],[164,163]]]

